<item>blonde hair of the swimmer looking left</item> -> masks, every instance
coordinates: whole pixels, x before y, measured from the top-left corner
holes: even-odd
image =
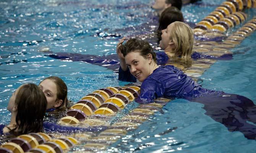
[[[194,34],[190,26],[180,21],[175,21],[171,32],[170,40],[175,44],[175,57],[190,58],[192,54]]]

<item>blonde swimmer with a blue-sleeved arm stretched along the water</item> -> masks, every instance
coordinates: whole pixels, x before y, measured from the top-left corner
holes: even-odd
[[[159,42],[164,52],[157,53],[158,63],[165,63],[171,58],[183,59],[214,59],[214,60],[231,60],[232,54],[223,53],[221,56],[204,55],[202,53],[192,52],[194,43],[194,34],[188,24],[176,21],[162,30],[162,40]],[[167,57],[168,56],[168,57]]]

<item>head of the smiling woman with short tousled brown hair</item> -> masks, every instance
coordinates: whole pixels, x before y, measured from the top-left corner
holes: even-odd
[[[120,49],[131,74],[140,82],[157,68],[156,53],[147,41],[129,39]]]

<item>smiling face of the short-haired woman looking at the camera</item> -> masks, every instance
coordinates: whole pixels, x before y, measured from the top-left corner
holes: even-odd
[[[143,82],[151,74],[152,59],[145,59],[138,52],[130,52],[125,56],[125,63],[133,76]]]

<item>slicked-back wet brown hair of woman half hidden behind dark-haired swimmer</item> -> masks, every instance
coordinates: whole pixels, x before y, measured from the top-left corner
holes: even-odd
[[[46,79],[50,79],[56,84],[56,87],[57,87],[56,101],[62,100],[62,105],[55,108],[55,111],[65,111],[67,109],[70,109],[71,104],[70,104],[70,101],[68,100],[68,87],[66,86],[65,82],[62,79],[60,79],[60,77],[57,77],[57,76],[50,76],[45,78],[44,80]]]

